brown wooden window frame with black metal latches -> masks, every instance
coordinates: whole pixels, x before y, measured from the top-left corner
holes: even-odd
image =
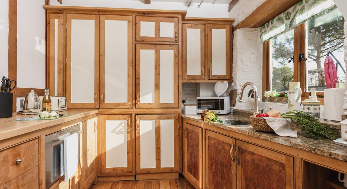
[[[302,23],[294,28],[294,82],[300,82],[302,92],[301,100],[308,99],[310,92],[306,89],[306,61],[299,62],[299,54],[307,55],[306,47],[306,22]],[[262,88],[262,100],[265,101],[264,91],[270,90],[270,61],[271,61],[271,43],[270,40],[263,43],[263,88]],[[324,92],[317,92],[317,99],[323,105]],[[271,101],[275,98],[270,97]],[[279,100],[284,99],[284,92],[280,92]]]

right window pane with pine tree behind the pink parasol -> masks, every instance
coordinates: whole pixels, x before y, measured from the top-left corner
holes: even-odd
[[[336,6],[307,21],[307,72],[306,91],[316,88],[324,91],[327,88],[324,76],[324,60],[330,51],[342,64],[344,62],[344,17]],[[332,57],[333,58],[333,57]],[[336,63],[336,60],[333,58]],[[339,66],[337,69],[339,82],[345,82],[345,74]]]

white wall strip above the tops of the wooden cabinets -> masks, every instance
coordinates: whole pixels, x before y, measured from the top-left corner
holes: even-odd
[[[188,8],[188,3],[182,2],[158,2],[144,4],[141,1],[130,0],[63,0],[62,4],[56,0],[50,1],[50,5],[55,6],[83,6],[83,7],[114,7],[114,8],[135,8],[135,9],[166,9],[166,10],[186,10],[187,17],[211,17],[229,18],[228,4],[192,3]]]

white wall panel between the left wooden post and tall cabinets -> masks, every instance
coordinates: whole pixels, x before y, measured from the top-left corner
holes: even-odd
[[[44,0],[18,0],[17,87],[45,88]]]

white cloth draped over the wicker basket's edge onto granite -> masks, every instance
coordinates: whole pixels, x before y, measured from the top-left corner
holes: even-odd
[[[274,118],[274,117],[262,117],[266,120],[266,123],[273,129],[273,131],[279,136],[290,136],[297,138],[297,131],[290,129],[291,120],[288,118]]]

